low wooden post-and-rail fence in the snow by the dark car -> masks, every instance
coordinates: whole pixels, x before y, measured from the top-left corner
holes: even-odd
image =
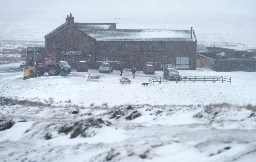
[[[208,82],[208,81],[211,81],[212,83],[215,83],[215,82],[229,82],[229,84],[231,84],[231,77],[228,77],[228,76],[184,76],[183,78],[181,78],[180,80],[176,79],[176,83],[178,82],[183,82],[186,83],[186,82]],[[150,78],[149,79],[149,86],[151,86],[151,84],[155,84],[155,82],[157,83],[168,83],[168,82],[172,82],[171,80],[168,80],[164,77],[153,77],[153,78]]]

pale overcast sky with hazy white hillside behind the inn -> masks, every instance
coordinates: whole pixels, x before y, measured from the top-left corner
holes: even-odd
[[[17,35],[26,35],[23,27],[27,22],[29,30],[40,36],[36,39],[44,40],[43,36],[64,23],[72,12],[75,22],[114,22],[117,17],[123,29],[189,29],[191,25],[198,41],[241,40],[256,46],[254,0],[1,0],[0,6],[0,39],[22,39]],[[19,27],[17,22],[23,25]],[[211,31],[219,31],[218,37]]]

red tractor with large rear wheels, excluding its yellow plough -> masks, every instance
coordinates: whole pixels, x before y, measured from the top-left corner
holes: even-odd
[[[48,72],[49,75],[59,75],[61,67],[56,63],[55,58],[45,58],[43,63],[37,63],[35,65],[35,73],[37,76],[44,75]]]

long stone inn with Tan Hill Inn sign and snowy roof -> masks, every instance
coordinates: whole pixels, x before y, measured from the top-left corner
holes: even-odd
[[[116,29],[116,23],[75,23],[72,14],[66,22],[45,35],[49,57],[67,61],[122,62],[124,68],[138,70],[146,63],[167,64],[178,69],[196,69],[196,36],[190,30]],[[158,65],[157,65],[158,66]]]

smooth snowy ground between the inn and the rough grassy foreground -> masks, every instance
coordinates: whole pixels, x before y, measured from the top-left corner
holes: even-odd
[[[19,63],[0,65],[1,96],[22,98],[49,99],[54,101],[71,100],[73,104],[83,102],[82,106],[90,103],[109,106],[120,104],[210,104],[232,103],[239,105],[256,104],[255,72],[215,72],[209,69],[179,70],[181,76],[228,76],[231,84],[221,83],[184,83],[168,82],[155,83],[153,86],[142,86],[148,83],[153,76],[163,76],[162,71],[156,71],[155,75],[145,75],[142,71],[136,72],[136,78],[132,79],[130,71],[124,71],[123,77],[132,80],[131,84],[119,82],[120,72],[113,71],[110,74],[100,73],[98,70],[89,72],[100,75],[97,80],[87,81],[89,72],[77,72],[72,69],[67,76],[48,76],[23,79],[23,71]],[[6,69],[9,72],[5,72]]]

